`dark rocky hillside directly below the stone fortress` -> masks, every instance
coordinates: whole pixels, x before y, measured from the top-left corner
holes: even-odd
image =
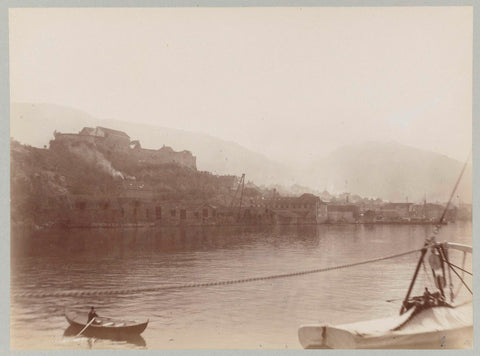
[[[148,164],[88,141],[60,140],[41,149],[12,140],[10,157],[13,224],[71,220],[80,200],[95,210],[117,206],[120,200],[127,206],[155,200],[229,201],[235,183],[233,176],[173,162]]]

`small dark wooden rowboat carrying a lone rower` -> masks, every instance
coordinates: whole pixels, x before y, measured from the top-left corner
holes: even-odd
[[[65,318],[78,331],[88,324],[88,312],[68,310],[65,312]],[[97,316],[82,334],[95,337],[130,337],[140,335],[147,325],[148,319],[139,322]]]

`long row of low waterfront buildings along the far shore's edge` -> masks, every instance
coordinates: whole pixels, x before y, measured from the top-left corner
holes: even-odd
[[[224,206],[207,201],[164,201],[138,183],[123,187],[112,198],[71,196],[63,214],[45,214],[46,220],[61,219],[68,226],[182,226],[182,225],[297,225],[354,223],[436,223],[444,206],[423,203],[330,203],[313,194],[298,197],[257,197],[240,205]],[[55,209],[56,210],[56,209]],[[55,215],[56,214],[56,215]],[[51,216],[49,216],[51,215]],[[455,221],[457,208],[450,208],[445,222]],[[39,222],[41,224],[41,222]]]

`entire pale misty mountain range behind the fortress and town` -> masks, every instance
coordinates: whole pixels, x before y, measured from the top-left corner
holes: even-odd
[[[202,133],[115,120],[100,120],[86,112],[52,104],[11,104],[11,136],[36,147],[48,145],[53,131],[78,132],[85,126],[104,126],[126,132],[145,148],[171,146],[189,150],[197,167],[214,174],[246,174],[257,185],[281,185],[298,194],[298,187],[333,194],[350,192],[363,197],[411,202],[448,200],[462,162],[399,143],[369,142],[348,145],[327,156],[320,153],[307,166],[268,159],[237,143]],[[309,152],[310,153],[310,152]],[[472,168],[466,170],[454,202],[471,203]]]

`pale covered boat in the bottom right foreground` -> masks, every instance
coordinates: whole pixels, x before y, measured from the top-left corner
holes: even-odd
[[[339,326],[304,325],[298,337],[306,349],[472,348],[473,308],[468,303]]]

